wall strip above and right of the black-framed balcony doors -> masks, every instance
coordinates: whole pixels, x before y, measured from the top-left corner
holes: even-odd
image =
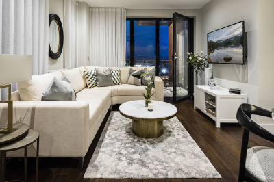
[[[194,51],[201,51],[201,10],[196,9],[127,9],[127,18],[172,18],[177,12],[194,18]]]

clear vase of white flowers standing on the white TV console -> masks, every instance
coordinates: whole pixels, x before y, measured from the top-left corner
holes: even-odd
[[[205,71],[206,63],[208,61],[206,56],[207,55],[203,55],[203,51],[201,51],[201,55],[199,55],[198,53],[196,54],[188,53],[188,66],[192,66],[196,73],[195,85],[203,85],[205,83],[204,71]]]

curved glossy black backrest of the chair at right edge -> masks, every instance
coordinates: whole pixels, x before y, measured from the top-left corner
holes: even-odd
[[[266,109],[257,107],[255,105],[242,104],[238,108],[236,117],[240,125],[244,127],[245,129],[247,129],[248,131],[251,131],[252,133],[255,133],[256,135],[259,135],[260,137],[266,140],[274,142],[273,133],[267,131],[266,129],[258,125],[256,122],[251,120],[251,115],[266,116],[271,118],[272,117],[271,114],[272,112]]]

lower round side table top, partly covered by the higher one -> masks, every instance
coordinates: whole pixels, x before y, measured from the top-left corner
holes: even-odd
[[[20,148],[23,148],[29,144],[32,144],[35,142],[39,137],[38,131],[35,131],[33,129],[29,129],[29,133],[25,136],[25,138],[21,139],[19,138],[18,140],[14,140],[12,142],[6,143],[6,144],[1,144],[0,145],[0,151],[15,151]]]

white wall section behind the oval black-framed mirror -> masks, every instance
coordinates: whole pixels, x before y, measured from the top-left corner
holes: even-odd
[[[62,22],[64,23],[64,0],[49,0],[49,14],[57,14]],[[65,43],[65,42],[64,42]],[[64,50],[63,50],[64,51]],[[63,51],[57,60],[49,57],[49,70],[62,69],[64,66]]]

